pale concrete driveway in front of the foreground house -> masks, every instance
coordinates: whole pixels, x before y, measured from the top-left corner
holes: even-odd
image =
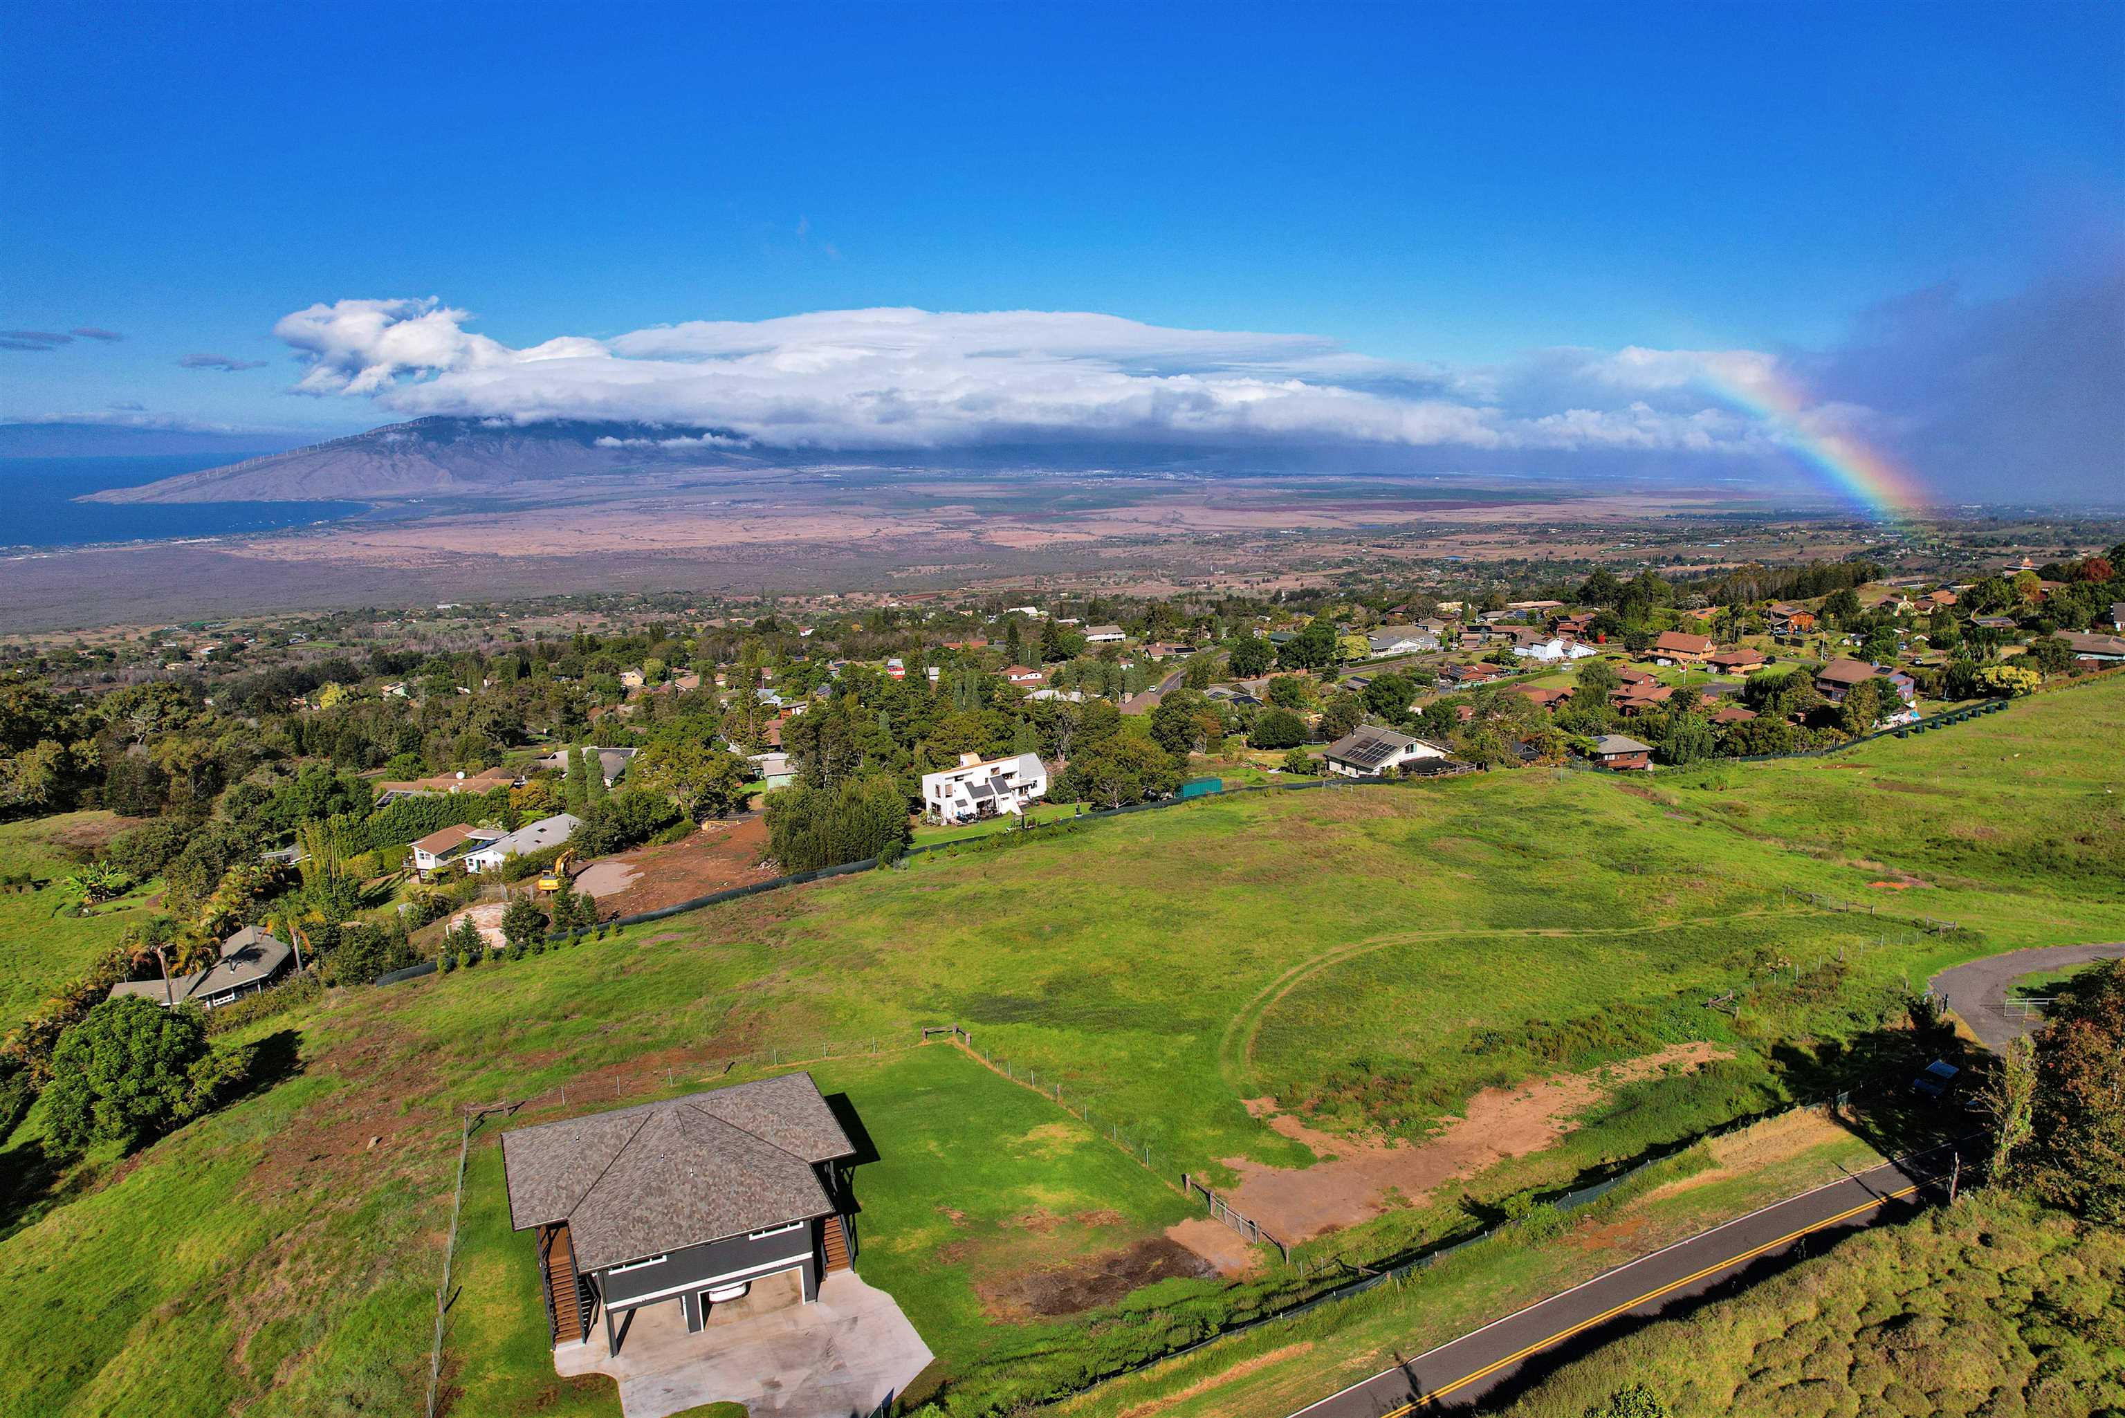
[[[869,1418],[931,1361],[929,1346],[890,1295],[854,1271],[835,1271],[818,1301],[797,1303],[776,1286],[716,1305],[688,1335],[676,1301],[644,1305],[606,1354],[599,1324],[586,1344],[563,1344],[552,1365],[563,1378],[606,1373],[620,1386],[627,1418],[665,1418],[701,1403],[744,1403],[750,1418]]]

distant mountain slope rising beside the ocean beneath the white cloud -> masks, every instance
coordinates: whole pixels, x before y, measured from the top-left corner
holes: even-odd
[[[478,419],[414,419],[329,442],[187,472],[142,487],[113,487],[83,502],[391,502],[502,491],[523,483],[672,468],[684,449],[661,446],[682,429],[629,423],[493,425]],[[691,451],[703,453],[699,444]],[[754,459],[706,449],[722,466]]]

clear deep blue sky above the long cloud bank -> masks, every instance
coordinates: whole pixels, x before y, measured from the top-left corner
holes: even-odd
[[[1458,372],[1556,347],[1828,357],[1912,291],[1968,310],[2100,278],[2125,230],[2114,4],[0,23],[0,327],[125,336],[0,351],[13,417],[380,423],[289,395],[274,323],[427,296],[510,349],[920,306]]]

